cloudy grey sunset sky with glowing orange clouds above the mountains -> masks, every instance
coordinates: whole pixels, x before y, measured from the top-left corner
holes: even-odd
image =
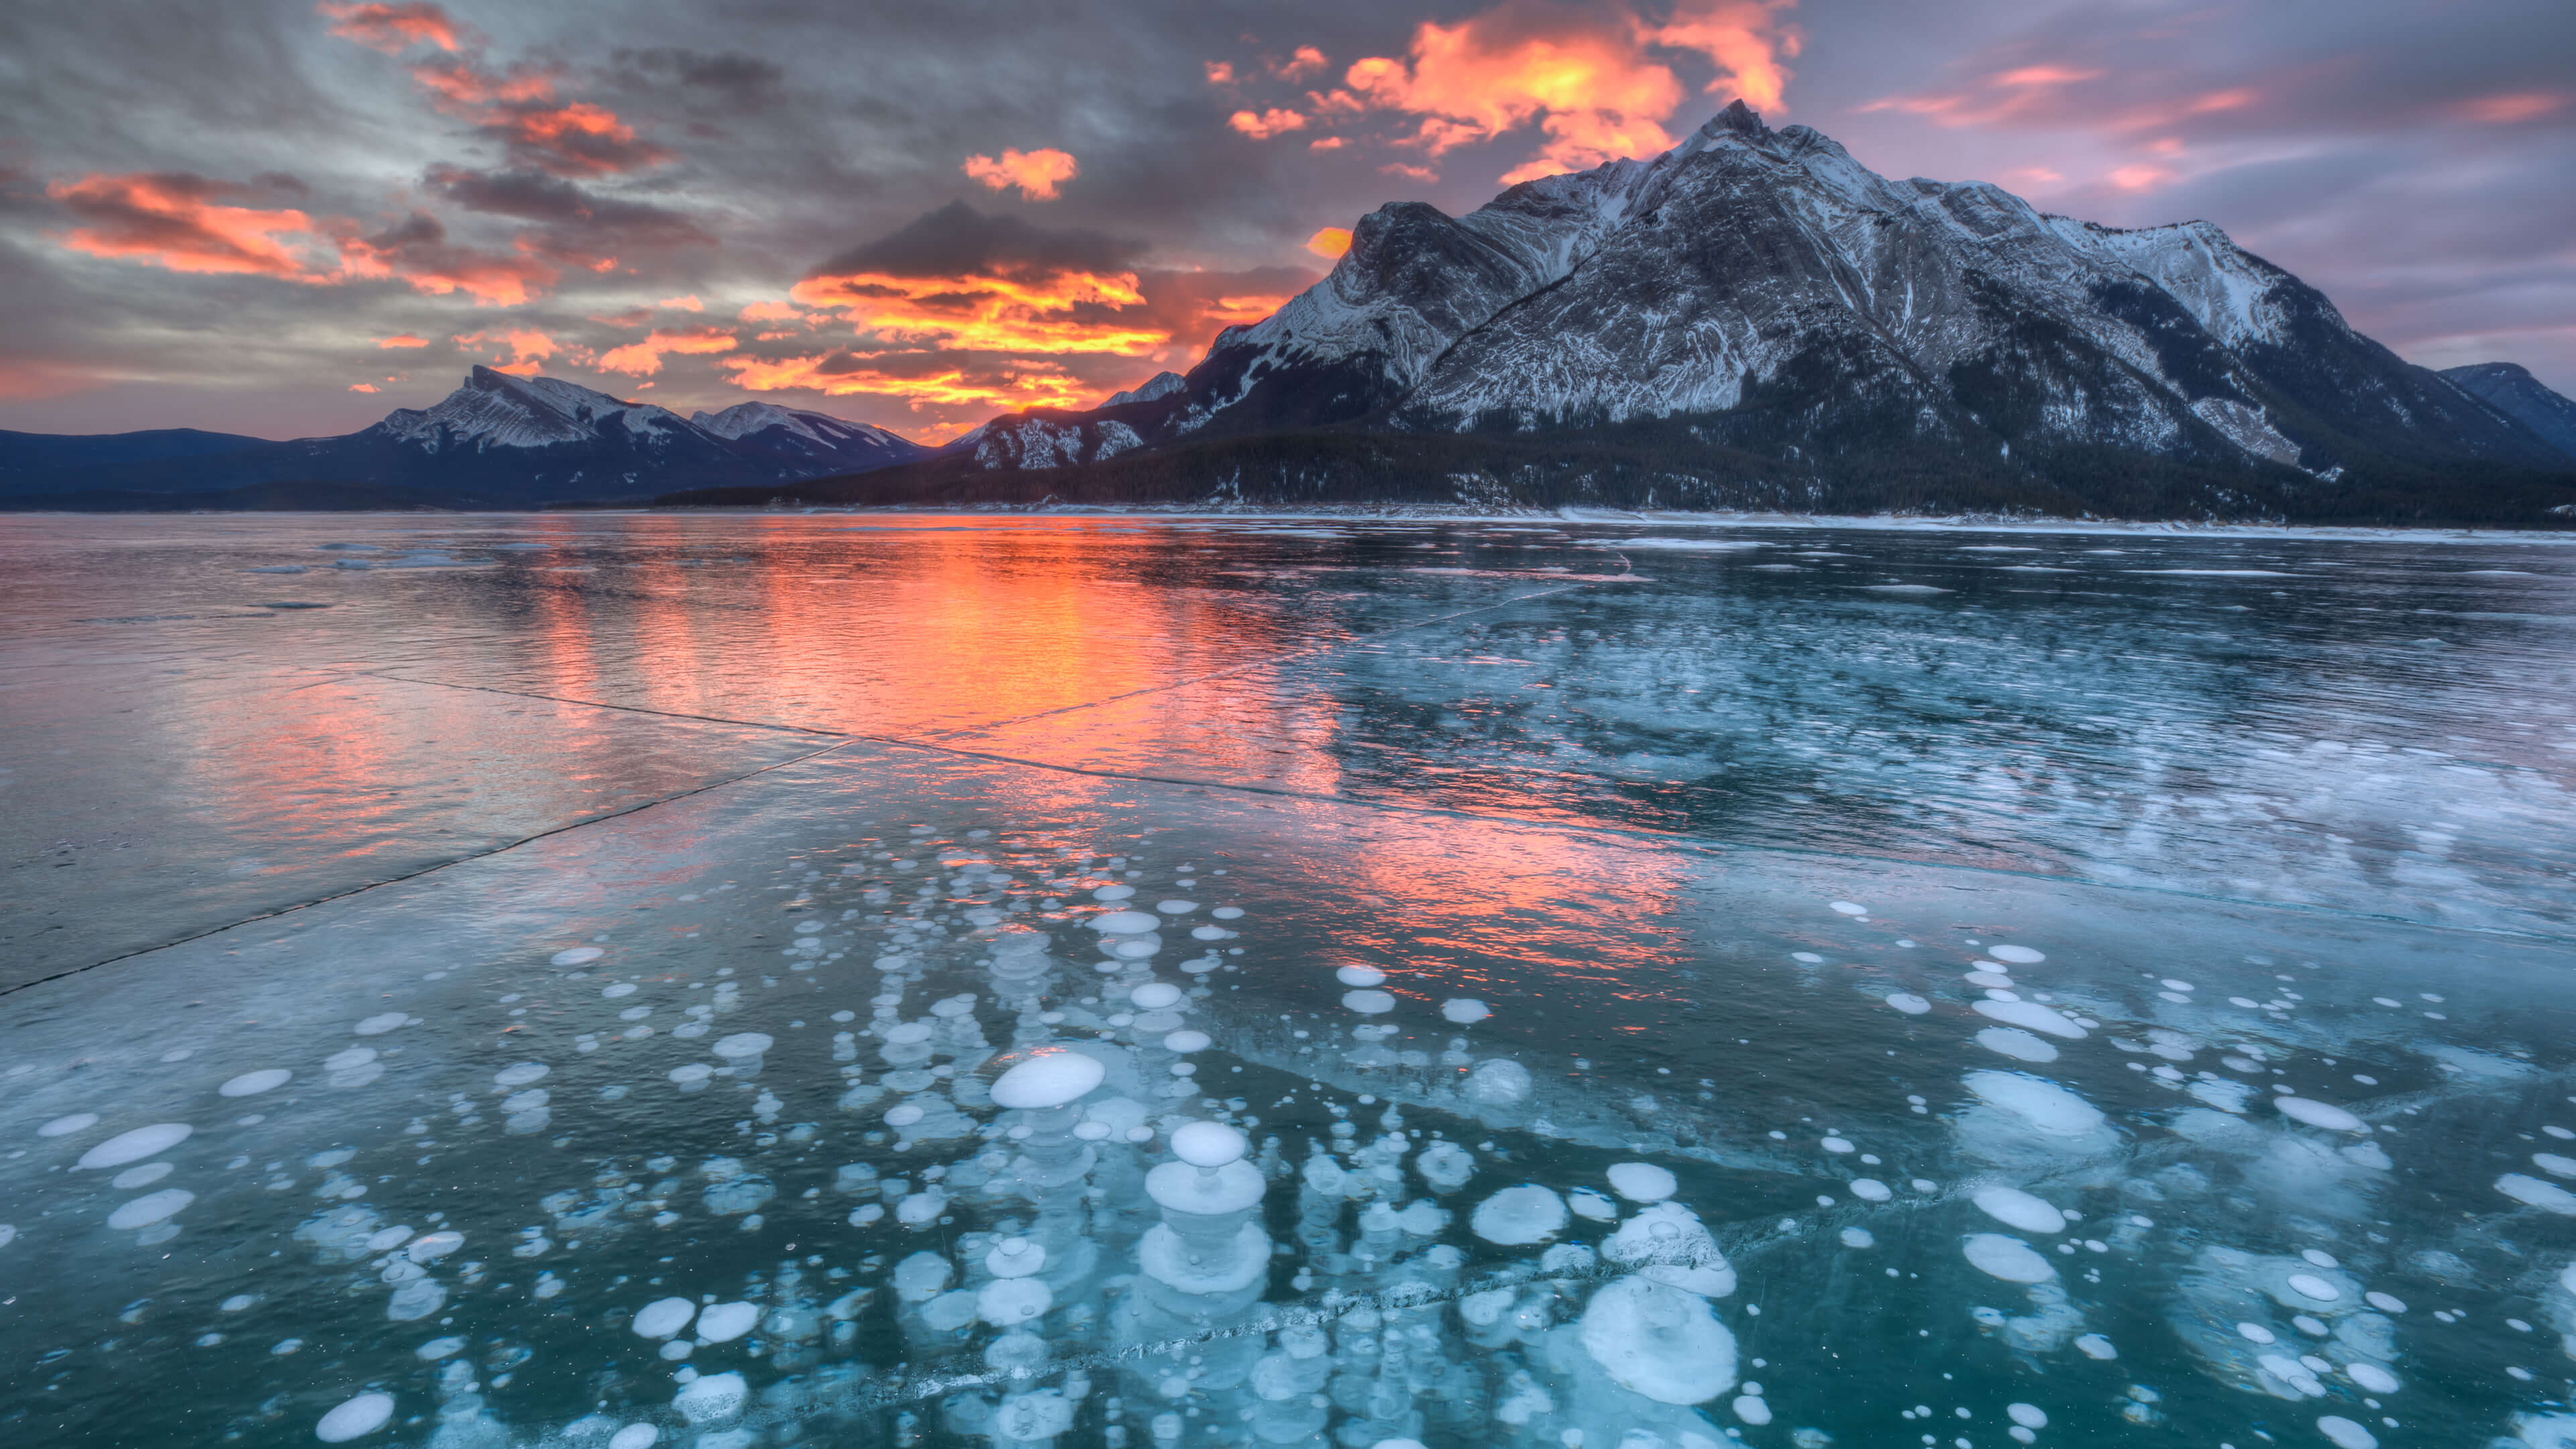
[[[484,364],[945,441],[1736,98],[2576,394],[2566,0],[13,0],[0,428],[348,433]]]

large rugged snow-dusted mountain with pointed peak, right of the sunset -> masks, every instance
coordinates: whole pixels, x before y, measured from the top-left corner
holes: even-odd
[[[974,459],[1190,446],[1239,482],[1224,438],[1316,428],[1628,449],[1620,467],[1672,500],[1826,498],[1891,472],[2063,492],[2151,464],[2156,487],[2277,498],[2566,467],[2208,222],[2115,229],[1981,180],[1888,180],[1741,103],[1651,162],[1466,217],[1383,206],[1324,281],[1221,333],[1180,384],[997,418]]]

